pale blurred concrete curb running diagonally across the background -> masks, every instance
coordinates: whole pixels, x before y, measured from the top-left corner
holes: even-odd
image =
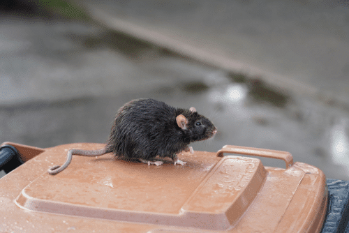
[[[79,4],[81,5],[82,3],[80,2]],[[100,8],[91,6],[89,3],[84,3],[82,7],[87,10],[93,20],[96,20],[96,22],[102,24],[104,27],[114,31],[125,33],[128,36],[147,41],[158,47],[183,55],[184,57],[188,57],[195,61],[205,63],[209,66],[221,68],[227,72],[243,73],[244,75],[248,75],[248,77],[260,77],[262,80],[284,93],[311,96],[312,98],[322,100],[325,103],[335,103],[341,107],[349,108],[349,102],[346,101],[345,98],[334,96],[334,93],[331,93],[330,91],[319,90],[308,84],[292,80],[289,77],[276,75],[275,73],[252,67],[249,64],[230,59],[229,57],[223,57],[218,54],[218,51],[210,51],[209,47],[202,48],[202,46],[198,47],[193,45],[193,41],[189,39],[186,40],[186,38],[183,38],[182,40],[178,40],[159,33],[158,31],[144,29],[137,24],[121,20],[110,13],[106,13]]]

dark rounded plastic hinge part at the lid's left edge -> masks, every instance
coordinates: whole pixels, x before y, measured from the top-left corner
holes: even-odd
[[[3,145],[0,148],[0,170],[9,173],[24,162],[20,158],[20,153],[14,146]]]

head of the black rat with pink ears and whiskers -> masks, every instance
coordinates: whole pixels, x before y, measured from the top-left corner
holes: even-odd
[[[184,114],[186,117],[184,117]],[[206,117],[198,114],[195,107],[191,107],[188,113],[176,117],[177,125],[190,137],[191,142],[207,140],[217,133],[217,128]]]

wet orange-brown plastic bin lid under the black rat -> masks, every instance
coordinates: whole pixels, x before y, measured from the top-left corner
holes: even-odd
[[[13,146],[18,146],[17,144]],[[20,145],[21,146],[21,145]],[[161,166],[73,156],[57,175],[69,149],[104,144],[66,144],[37,149],[0,179],[0,219],[5,231],[23,232],[318,232],[327,206],[325,175],[290,153],[225,146],[217,153],[179,154],[186,165]],[[33,148],[31,148],[33,149]],[[21,153],[25,153],[22,149]],[[264,167],[258,158],[285,160]],[[23,155],[25,157],[25,155]],[[223,157],[221,157],[223,156]],[[19,229],[22,229],[20,231]]]

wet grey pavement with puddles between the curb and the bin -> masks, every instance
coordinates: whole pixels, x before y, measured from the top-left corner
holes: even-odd
[[[1,15],[0,32],[1,142],[105,142],[117,109],[149,97],[194,106],[215,123],[214,140],[194,149],[235,144],[290,151],[328,178],[349,179],[346,105],[280,92],[87,22]]]

